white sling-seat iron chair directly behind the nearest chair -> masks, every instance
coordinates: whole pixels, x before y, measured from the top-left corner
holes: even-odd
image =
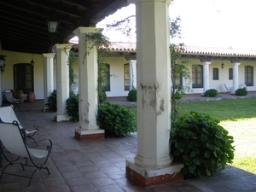
[[[17,121],[20,128],[23,128],[23,126],[20,124],[20,120],[17,118],[14,108],[12,106],[6,106],[0,108],[0,122],[4,123],[12,123]],[[36,120],[31,120],[31,119],[22,119],[22,121],[31,121],[33,122],[33,127],[30,130],[25,129],[26,131],[26,137],[31,138],[36,144],[36,140],[32,138],[38,131],[38,122]]]

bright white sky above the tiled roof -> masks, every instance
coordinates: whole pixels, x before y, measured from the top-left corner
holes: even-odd
[[[183,38],[174,43],[191,46],[256,49],[256,0],[174,0],[169,7],[171,18],[180,16]],[[103,27],[114,20],[135,15],[135,5],[119,9],[97,24]],[[112,42],[136,42],[136,36],[104,30]]]

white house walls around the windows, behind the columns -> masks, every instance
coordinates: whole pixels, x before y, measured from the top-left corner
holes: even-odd
[[[2,55],[6,56],[6,67],[5,71],[2,74],[2,90],[13,90],[14,89],[14,72],[13,66],[16,63],[30,63],[32,60],[32,54],[12,52],[2,50]],[[36,99],[44,99],[44,60],[42,55],[33,55],[34,65],[34,92]],[[115,96],[127,96],[129,90],[125,90],[124,84],[124,66],[128,61],[125,57],[108,57],[104,58],[104,61],[110,65],[110,91],[106,91],[108,97]],[[221,68],[221,64],[224,62],[224,69]],[[192,64],[201,65],[201,61],[198,59],[190,60],[188,65],[189,72],[192,74]],[[239,65],[239,87],[241,84],[245,83],[245,71],[246,66],[253,67],[253,86],[247,86],[248,91],[256,90],[256,61],[241,61]],[[55,67],[55,65],[54,65]],[[74,73],[79,74],[79,66],[74,64]],[[214,67],[218,68],[218,80],[212,79],[212,69]],[[229,79],[229,68],[232,68],[232,64],[229,60],[212,60],[212,63],[209,65],[209,88],[216,89],[218,92],[225,92],[226,89],[224,84],[227,87],[233,86],[233,81]],[[56,90],[56,67],[54,68],[55,79],[54,85]],[[78,82],[79,79],[75,79]],[[186,82],[183,79],[183,85]],[[201,94],[203,93],[203,88],[192,88],[192,81],[187,82],[191,88],[188,91],[188,94]],[[1,90],[1,91],[2,91]]]

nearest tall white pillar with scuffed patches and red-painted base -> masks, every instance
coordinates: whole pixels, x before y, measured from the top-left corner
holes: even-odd
[[[171,58],[168,7],[171,1],[130,0],[137,16],[137,155],[126,175],[151,186],[183,179],[171,164]]]

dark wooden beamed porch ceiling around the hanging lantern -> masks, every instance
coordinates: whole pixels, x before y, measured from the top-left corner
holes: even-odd
[[[53,44],[67,44],[79,26],[96,26],[125,7],[126,0],[1,0],[0,40],[3,50],[41,54]],[[60,20],[57,37],[49,38],[47,20]]]

